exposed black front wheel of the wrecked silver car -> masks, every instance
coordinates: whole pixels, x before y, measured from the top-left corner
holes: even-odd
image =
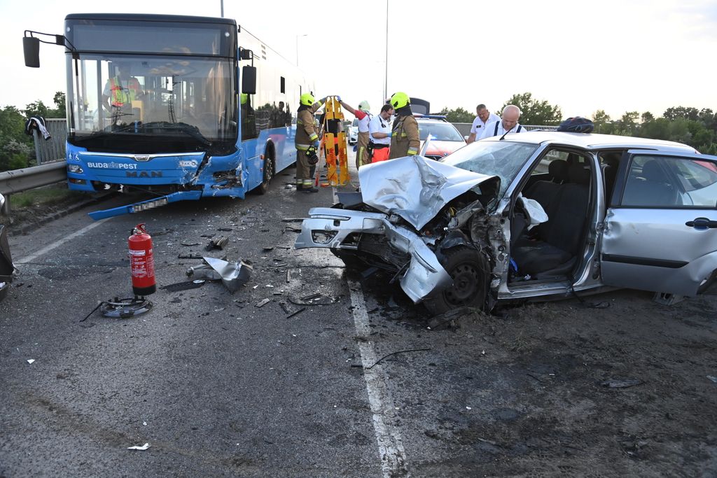
[[[427,297],[424,305],[434,315],[459,307],[483,308],[488,293],[488,261],[477,250],[458,246],[443,252],[441,265],[453,284]]]

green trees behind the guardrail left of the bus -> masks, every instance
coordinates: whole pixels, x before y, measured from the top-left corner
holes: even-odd
[[[14,106],[0,109],[0,171],[27,168],[35,162],[32,136],[25,134],[25,121],[31,116],[65,118],[65,93],[54,94],[54,108],[40,100],[29,103],[24,110]]]

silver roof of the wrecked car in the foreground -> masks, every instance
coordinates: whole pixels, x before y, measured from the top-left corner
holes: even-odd
[[[498,141],[500,137],[493,136],[481,141]],[[586,133],[563,133],[560,131],[528,131],[520,134],[506,135],[503,140],[515,143],[555,143],[567,146],[577,146],[587,150],[602,150],[610,148],[648,148],[655,150],[683,151],[695,153],[691,146],[675,143],[675,141],[653,140],[649,138],[635,138],[634,136],[599,135]]]

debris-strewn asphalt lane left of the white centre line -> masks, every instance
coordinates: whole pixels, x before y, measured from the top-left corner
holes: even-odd
[[[1,476],[404,474],[381,365],[366,377],[360,366],[360,347],[376,360],[361,337],[368,314],[356,322],[343,264],[294,250],[300,223],[282,221],[332,204],[332,188],[298,193],[292,180],[288,170],[265,196],[100,223],[80,211],[11,238],[21,274],[0,303]],[[234,294],[220,283],[158,290],[146,315],[82,322],[98,302],[129,297],[138,222],[153,236],[159,287],[187,280],[201,261],[178,256],[192,253],[248,261],[250,281]],[[204,252],[207,234],[228,246]]]

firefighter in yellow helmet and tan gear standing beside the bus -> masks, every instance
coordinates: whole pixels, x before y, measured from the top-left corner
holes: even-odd
[[[326,97],[316,101],[310,93],[304,93],[299,98],[299,107],[296,110],[295,138],[297,191],[318,192],[318,189],[313,185],[320,144],[314,113],[324,102],[326,102]]]

